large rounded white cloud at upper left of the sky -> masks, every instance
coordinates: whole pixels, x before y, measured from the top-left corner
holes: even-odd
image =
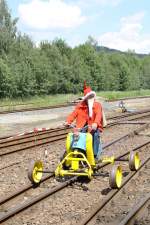
[[[64,0],[32,0],[18,7],[21,23],[32,29],[77,27],[86,21],[78,6]]]

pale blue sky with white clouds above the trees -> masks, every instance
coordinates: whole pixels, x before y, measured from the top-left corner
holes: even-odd
[[[38,45],[71,47],[92,36],[100,46],[150,53],[150,0],[6,0],[17,27]]]

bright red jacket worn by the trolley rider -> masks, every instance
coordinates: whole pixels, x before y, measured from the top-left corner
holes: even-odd
[[[102,126],[102,106],[98,102],[94,102],[93,104],[93,116],[92,118],[88,115],[88,106],[85,101],[79,103],[75,110],[67,117],[67,122],[71,124],[74,120],[76,120],[76,127],[82,128],[87,123],[88,125],[92,125],[92,123],[97,123],[98,129],[100,131],[103,130]]]

